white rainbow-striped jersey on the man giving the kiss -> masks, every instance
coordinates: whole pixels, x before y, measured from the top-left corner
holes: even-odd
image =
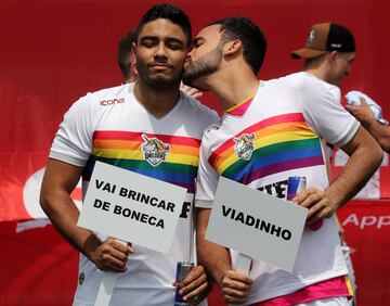
[[[307,73],[261,82],[250,104],[240,106],[247,107],[243,114],[226,112],[221,125],[205,131],[196,206],[212,206],[219,176],[281,199],[289,176],[304,176],[308,188],[324,190],[328,179],[321,139],[342,146],[360,127],[339,99],[337,87]],[[231,250],[231,255],[234,265],[237,253]],[[247,304],[347,273],[335,219],[324,219],[320,229],[304,229],[292,273],[252,262]]]

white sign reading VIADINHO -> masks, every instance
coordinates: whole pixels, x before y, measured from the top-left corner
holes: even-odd
[[[291,272],[308,209],[221,177],[206,239]]]

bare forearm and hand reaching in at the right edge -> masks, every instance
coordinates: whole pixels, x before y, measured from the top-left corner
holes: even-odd
[[[381,125],[376,119],[369,109],[367,102],[362,98],[361,106],[346,105],[346,110],[350,112],[368,132],[379,142],[380,146],[390,153],[390,126]]]

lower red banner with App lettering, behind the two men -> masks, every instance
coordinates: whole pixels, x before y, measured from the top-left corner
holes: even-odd
[[[390,305],[390,201],[354,201],[338,216],[353,250],[358,304]],[[51,225],[0,222],[0,305],[72,304],[78,254]],[[209,305],[224,305],[217,285]]]

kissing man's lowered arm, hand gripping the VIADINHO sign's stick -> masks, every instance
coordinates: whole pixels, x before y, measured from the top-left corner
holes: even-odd
[[[242,304],[249,295],[252,279],[231,268],[227,250],[206,240],[211,209],[198,208],[196,243],[198,260],[216,280],[226,303]]]

